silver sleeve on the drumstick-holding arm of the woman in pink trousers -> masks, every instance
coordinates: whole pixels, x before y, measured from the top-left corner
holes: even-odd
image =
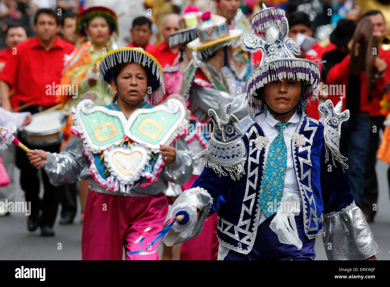
[[[77,182],[85,174],[83,169],[88,168],[89,160],[84,154],[83,142],[73,135],[60,153],[48,152],[48,159],[44,171],[52,185],[61,185]]]

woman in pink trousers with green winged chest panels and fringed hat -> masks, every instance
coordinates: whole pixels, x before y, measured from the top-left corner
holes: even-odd
[[[168,212],[168,181],[186,182],[193,157],[181,136],[189,111],[178,95],[154,107],[164,94],[160,64],[142,48],[119,48],[103,58],[100,84],[114,102],[82,100],[72,109],[74,134],[60,153],[28,154],[53,185],[90,180],[82,258],[157,260],[159,239],[137,241]],[[145,98],[145,94],[147,94]],[[145,101],[147,100],[147,102]],[[142,256],[143,255],[143,256]]]

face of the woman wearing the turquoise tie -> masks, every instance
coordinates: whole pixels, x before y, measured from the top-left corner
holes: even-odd
[[[299,102],[302,93],[300,80],[274,80],[264,85],[264,100],[277,113],[293,109]]]

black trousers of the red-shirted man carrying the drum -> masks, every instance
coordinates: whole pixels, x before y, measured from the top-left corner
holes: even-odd
[[[20,140],[23,142],[22,137]],[[53,153],[59,152],[60,145],[57,144],[45,147],[28,145],[28,148],[31,150],[41,149]],[[16,152],[16,166],[20,169],[20,185],[25,192],[26,201],[31,202],[30,216],[36,218],[39,216],[40,210],[42,210],[40,225],[53,227],[58,211],[59,193],[63,190],[63,187],[51,185],[46,172],[42,171],[44,195],[43,199],[40,200],[39,170],[30,165],[26,153],[20,148],[18,148]]]

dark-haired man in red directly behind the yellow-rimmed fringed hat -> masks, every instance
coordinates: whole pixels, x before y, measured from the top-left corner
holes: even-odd
[[[137,17],[133,20],[133,27],[130,29],[131,42],[128,47],[141,47],[150,53],[156,46],[149,42],[152,36],[152,21],[145,16]]]

